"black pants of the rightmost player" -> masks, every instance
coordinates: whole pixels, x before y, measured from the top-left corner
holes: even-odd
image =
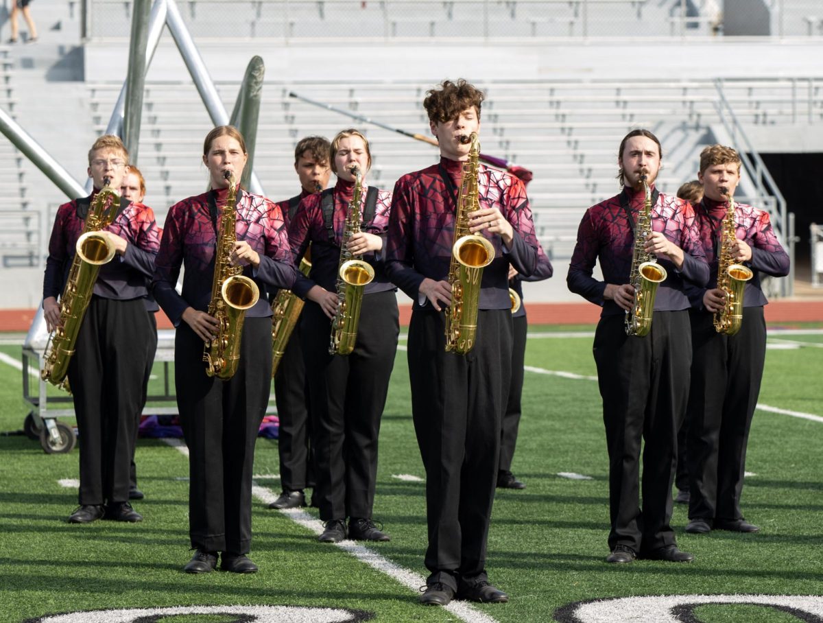
[[[762,307],[743,308],[737,335],[714,330],[713,314],[692,311],[688,461],[689,518],[742,518],[746,444],[766,353]]]

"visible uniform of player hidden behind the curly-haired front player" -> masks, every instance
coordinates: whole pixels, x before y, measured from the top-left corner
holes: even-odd
[[[523,408],[523,365],[526,362],[526,334],[528,320],[526,305],[523,302],[523,281],[542,281],[554,274],[549,258],[543,252],[542,246],[537,246],[537,270],[531,277],[523,277],[519,273],[509,279],[509,286],[520,297],[520,309],[512,314],[512,379],[509,384],[509,399],[503,413],[503,423],[500,431],[500,464],[497,466],[497,486],[504,489],[525,489],[526,485],[518,481],[512,474],[512,460],[514,446],[517,444],[520,416]]]

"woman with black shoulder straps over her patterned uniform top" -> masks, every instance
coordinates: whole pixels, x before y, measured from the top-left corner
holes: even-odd
[[[372,507],[380,418],[399,333],[396,288],[383,267],[391,194],[365,182],[356,188],[353,171],[365,179],[371,166],[369,142],[356,129],[337,133],[328,161],[337,183],[304,198],[289,224],[295,266],[311,244],[311,272],[308,277],[299,273],[292,291],[306,300],[300,337],[306,370],[311,371],[311,444],[317,468],[314,499],[325,523],[319,541],[340,542],[346,537],[388,541],[388,534],[372,519]],[[362,200],[354,205],[358,192]],[[348,235],[350,217],[363,225]],[[329,352],[344,249],[374,268],[374,280],[362,295],[354,351],[347,356]]]

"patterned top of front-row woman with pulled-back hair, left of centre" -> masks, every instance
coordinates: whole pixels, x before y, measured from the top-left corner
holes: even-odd
[[[184,199],[170,207],[165,218],[152,286],[157,302],[175,327],[187,307],[207,311],[212,300],[216,232],[221,227],[227,193],[228,189],[221,188]],[[210,203],[217,208],[216,224],[212,223]],[[237,240],[245,240],[260,254],[260,265],[244,267],[243,271],[261,292],[257,305],[248,309],[246,316],[270,316],[272,309],[264,294],[266,286],[290,288],[295,281],[283,218],[272,201],[243,191],[237,193],[235,209]],[[174,290],[181,264],[185,269],[182,296]]]

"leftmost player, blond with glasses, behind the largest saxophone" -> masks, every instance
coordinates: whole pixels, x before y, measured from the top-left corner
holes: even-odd
[[[49,331],[61,323],[57,297],[66,284],[86,216],[100,190],[119,190],[127,172],[128,151],[119,137],[98,138],[89,151],[91,197],[58,207],[43,282]],[[109,209],[115,211],[114,221],[101,231],[116,255],[100,267],[68,365],[80,443],[80,506],[68,518],[71,523],[104,516],[142,520],[128,502],[128,478],[152,331],[143,300],[160,238],[151,207],[121,198]],[[118,356],[124,351],[130,356]]]

